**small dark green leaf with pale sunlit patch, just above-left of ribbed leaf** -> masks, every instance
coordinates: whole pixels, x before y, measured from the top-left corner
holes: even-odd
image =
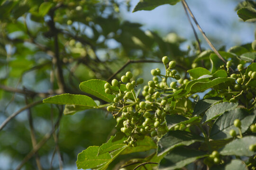
[[[202,112],[207,110],[210,106],[212,106],[213,104],[221,100],[222,98],[220,97],[211,97],[208,99],[198,101],[194,107],[193,115],[196,115],[196,116],[200,115]]]

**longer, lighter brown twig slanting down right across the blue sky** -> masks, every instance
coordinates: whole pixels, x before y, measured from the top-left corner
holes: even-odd
[[[188,10],[190,16],[192,17],[192,19],[194,20],[196,26],[198,27],[199,31],[201,32],[201,34],[203,35],[204,39],[206,40],[206,42],[210,45],[210,48],[215,52],[215,54],[219,57],[219,59],[221,59],[224,63],[226,63],[226,60],[223,59],[223,57],[219,54],[218,50],[216,50],[216,48],[213,46],[213,44],[210,42],[210,40],[207,38],[207,36],[205,35],[205,33],[203,32],[203,30],[201,29],[201,26],[198,24],[196,18],[194,17],[192,11],[190,10],[187,2],[185,0],[182,0],[183,5],[185,6],[185,8]]]

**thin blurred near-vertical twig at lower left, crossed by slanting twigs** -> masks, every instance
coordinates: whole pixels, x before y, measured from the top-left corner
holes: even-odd
[[[26,104],[28,104],[26,96],[25,96],[25,101],[26,101]],[[32,146],[33,146],[33,149],[34,149],[35,146],[37,145],[37,139],[36,139],[36,135],[35,135],[35,129],[34,129],[34,126],[33,126],[33,118],[32,118],[32,115],[31,115],[30,108],[27,109],[27,117],[28,117],[28,122],[29,122],[29,127],[30,127],[31,142],[32,142]],[[36,156],[36,162],[37,162],[38,170],[43,170],[42,165],[40,163],[40,158],[39,158],[38,153],[35,153],[35,156]]]

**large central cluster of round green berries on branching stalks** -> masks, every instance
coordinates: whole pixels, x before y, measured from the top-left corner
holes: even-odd
[[[144,80],[143,78],[133,80],[131,72],[121,76],[121,81],[113,79],[111,85],[109,83],[104,85],[105,93],[116,95],[114,102],[107,107],[107,110],[112,112],[118,125],[122,125],[120,130],[128,136],[128,139],[124,141],[128,145],[136,147],[138,139],[143,139],[146,135],[161,137],[168,131],[165,115],[170,110],[171,101],[168,101],[161,92],[172,90],[175,93],[178,90],[176,81],[168,85],[167,78],[179,80],[181,77],[174,69],[175,61],[169,62],[166,56],[162,61],[165,65],[165,75],[161,74],[159,68],[151,70],[154,77],[143,88],[144,101],[137,98],[134,89]]]

